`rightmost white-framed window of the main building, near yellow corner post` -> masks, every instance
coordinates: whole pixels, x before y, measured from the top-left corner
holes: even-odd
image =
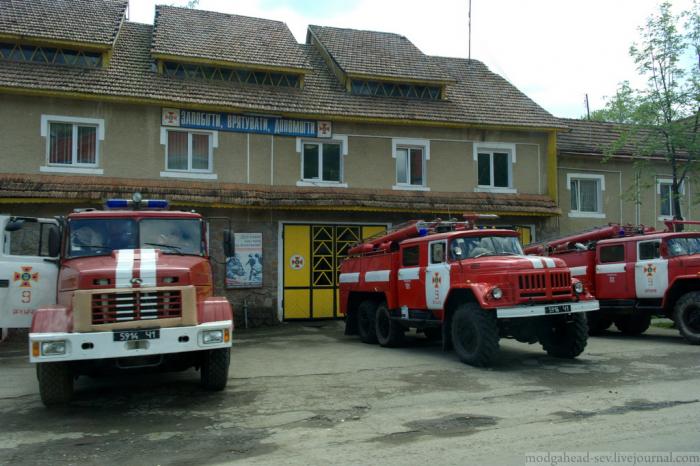
[[[516,193],[513,186],[515,144],[474,144],[477,192]]]

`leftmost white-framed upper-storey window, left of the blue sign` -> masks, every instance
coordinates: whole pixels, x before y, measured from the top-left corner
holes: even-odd
[[[46,139],[46,165],[42,172],[101,175],[100,141],[104,120],[63,115],[42,115],[41,136]]]

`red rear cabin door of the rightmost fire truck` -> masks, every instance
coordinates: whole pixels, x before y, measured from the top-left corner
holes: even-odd
[[[627,260],[624,243],[599,245],[595,287],[598,299],[632,299],[633,291],[627,280]]]

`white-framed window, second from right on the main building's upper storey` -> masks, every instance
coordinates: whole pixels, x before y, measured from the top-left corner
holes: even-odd
[[[430,141],[427,139],[392,139],[391,156],[396,160],[396,190],[430,191],[427,168]]]

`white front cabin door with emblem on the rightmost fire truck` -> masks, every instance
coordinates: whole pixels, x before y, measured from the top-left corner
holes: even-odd
[[[637,298],[663,298],[668,288],[668,259],[661,257],[661,240],[639,241],[634,264]]]

